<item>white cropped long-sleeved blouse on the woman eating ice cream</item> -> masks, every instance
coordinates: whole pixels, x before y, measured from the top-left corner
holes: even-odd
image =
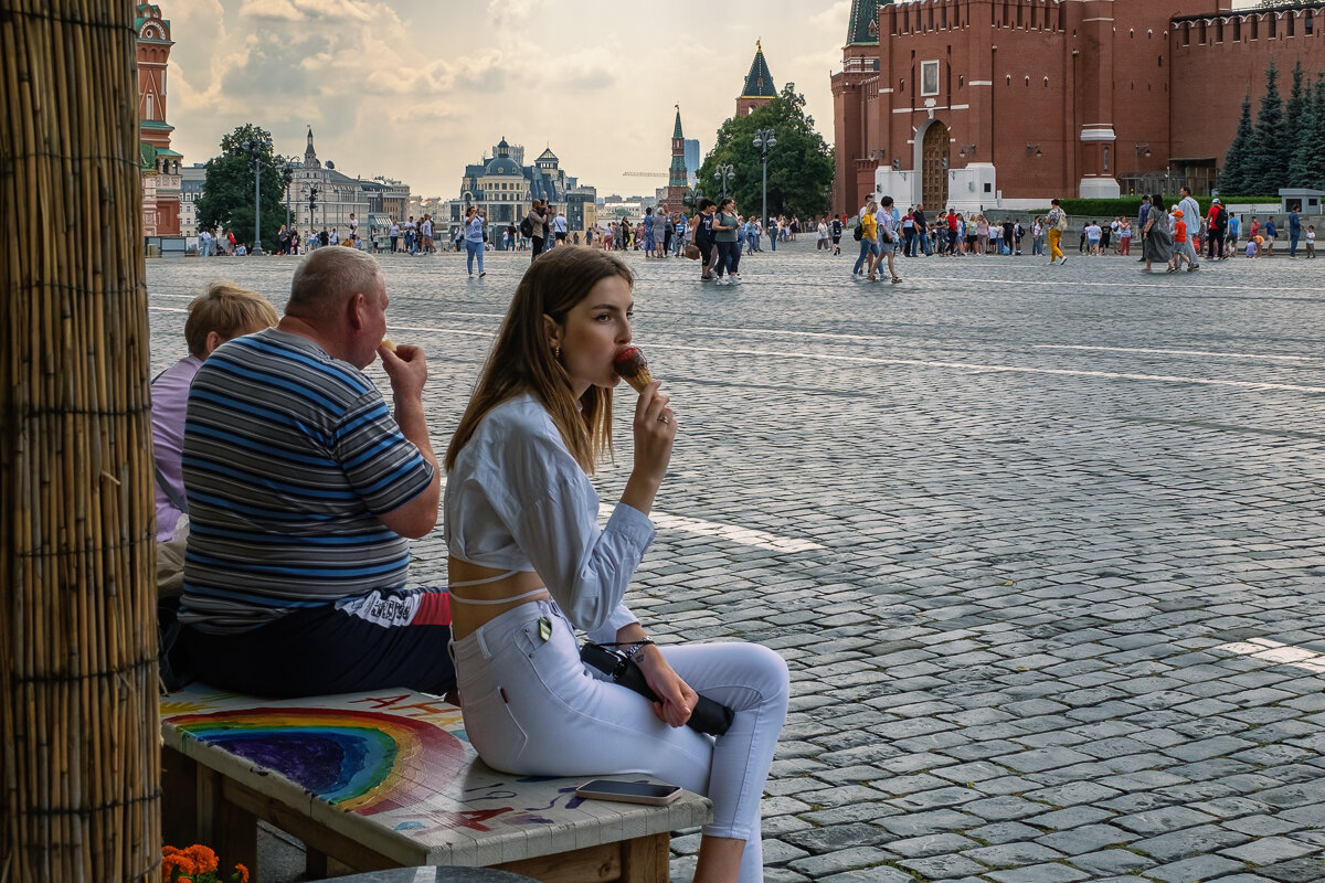
[[[444,535],[454,557],[498,571],[537,571],[591,641],[639,622],[623,597],[653,523],[617,504],[598,527],[598,492],[530,395],[493,408],[447,477]]]

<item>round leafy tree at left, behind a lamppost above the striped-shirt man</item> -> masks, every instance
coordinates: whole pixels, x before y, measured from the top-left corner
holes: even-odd
[[[262,248],[276,250],[285,222],[286,159],[272,152],[272,134],[252,123],[221,138],[221,154],[207,160],[203,195],[195,203],[197,228],[233,230],[240,242],[253,241],[254,160],[262,179]]]

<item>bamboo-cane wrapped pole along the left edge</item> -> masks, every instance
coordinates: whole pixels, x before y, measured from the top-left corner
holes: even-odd
[[[0,882],[155,880],[135,7],[0,0]]]

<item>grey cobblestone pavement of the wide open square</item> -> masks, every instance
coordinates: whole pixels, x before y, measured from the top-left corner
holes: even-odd
[[[800,242],[713,287],[629,259],[681,424],[629,601],[791,665],[768,880],[1325,879],[1317,265],[921,258],[888,286]],[[526,262],[386,262],[439,449]],[[292,267],[152,262],[154,367],[204,279],[280,306]],[[444,580],[440,539],[416,555]]]

